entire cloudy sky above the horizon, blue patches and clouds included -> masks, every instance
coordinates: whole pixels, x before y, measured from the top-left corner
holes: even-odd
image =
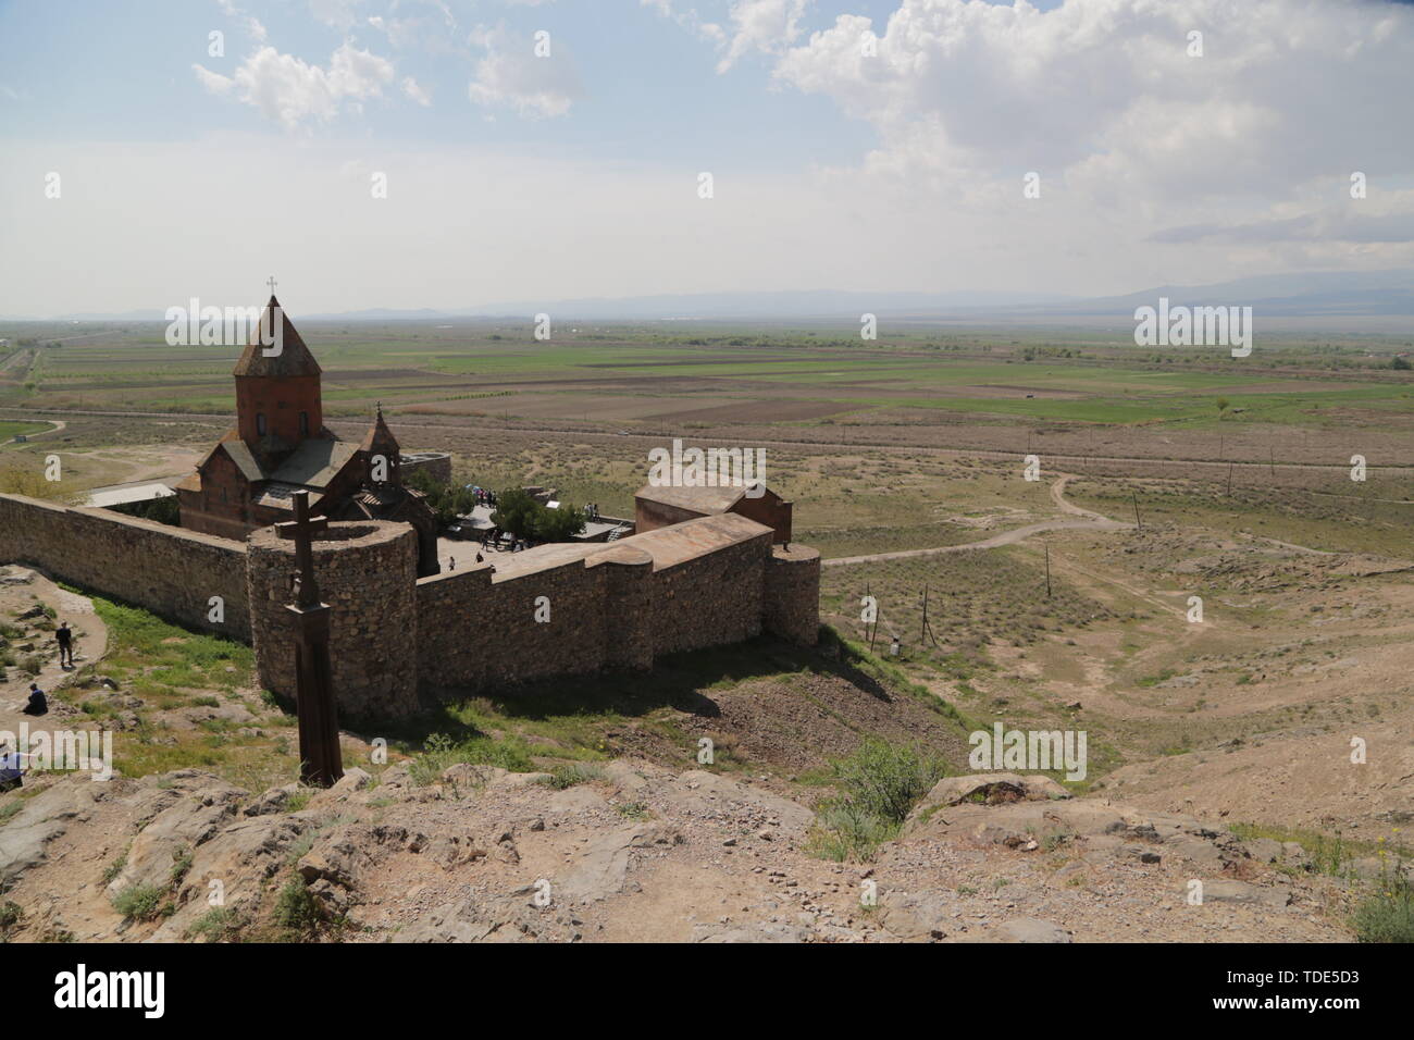
[[[1391,0],[11,0],[0,314],[1414,267],[1411,98]]]

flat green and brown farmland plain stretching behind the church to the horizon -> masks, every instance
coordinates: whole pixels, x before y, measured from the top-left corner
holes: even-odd
[[[1414,374],[1398,337],[1266,337],[1236,359],[1209,348],[1137,348],[1118,333],[911,328],[861,342],[840,328],[650,323],[554,330],[481,321],[300,323],[324,368],[331,416],[376,400],[423,413],[781,426],[915,423],[1321,427],[1332,413],[1407,432]],[[168,347],[160,324],[83,325],[11,354],[0,406],[226,413],[236,347]],[[65,331],[68,327],[52,331]],[[0,328],[52,342],[42,327]],[[25,334],[28,337],[25,338]],[[33,355],[33,358],[30,357]],[[605,398],[612,398],[605,403]],[[782,410],[779,405],[789,402]],[[776,408],[773,408],[776,406]],[[735,412],[735,415],[734,415]]]

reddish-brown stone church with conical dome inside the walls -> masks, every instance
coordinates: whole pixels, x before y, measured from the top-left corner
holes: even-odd
[[[232,375],[236,426],[177,484],[181,526],[245,541],[293,519],[293,495],[329,519],[385,519],[417,531],[417,574],[438,573],[437,519],[420,491],[403,484],[403,454],[383,409],[358,444],[324,426],[321,369],[271,294],[262,328],[281,323],[281,349],[266,357],[259,330]]]

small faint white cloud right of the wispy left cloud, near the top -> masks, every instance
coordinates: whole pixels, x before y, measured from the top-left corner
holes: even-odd
[[[467,96],[482,108],[510,108],[526,119],[566,115],[583,95],[580,75],[559,38],[551,38],[550,57],[537,58],[529,35],[505,25],[478,28],[471,42],[485,48]]]

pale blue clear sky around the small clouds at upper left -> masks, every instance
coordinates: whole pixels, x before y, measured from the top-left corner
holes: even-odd
[[[256,17],[271,45],[310,64],[327,64],[345,41],[387,55],[397,75],[416,78],[434,102],[424,108],[393,93],[368,105],[356,125],[335,120],[305,127],[322,137],[546,144],[584,156],[663,161],[706,151],[762,166],[848,161],[875,143],[868,125],[844,117],[827,99],[772,89],[764,55],[749,55],[732,75],[718,75],[711,47],[638,0],[450,3],[454,24],[433,4],[346,7],[362,20],[331,24],[310,4],[290,0],[242,3],[243,14],[226,14],[202,0],[6,3],[0,6],[0,83],[25,89],[33,103],[7,108],[0,126],[18,137],[89,140],[259,133],[267,120],[256,109],[194,89],[198,83],[191,74],[194,62],[232,74],[255,42],[243,20]],[[703,7],[725,13],[728,6],[707,0]],[[59,8],[64,17],[57,17]],[[847,10],[882,24],[894,4],[820,4],[803,24],[827,27],[836,13]],[[430,23],[423,45],[393,47],[386,34],[366,24],[368,17],[396,17],[393,11]],[[477,25],[502,24],[525,37],[546,30],[551,52],[556,44],[564,50],[583,81],[573,119],[518,119],[468,102],[468,69],[482,54],[468,34]],[[226,34],[223,58],[206,55],[212,30]],[[445,50],[433,50],[433,41]]]

